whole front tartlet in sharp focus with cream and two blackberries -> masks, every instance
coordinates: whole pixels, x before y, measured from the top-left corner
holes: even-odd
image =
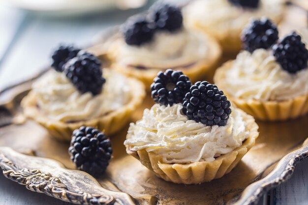
[[[173,85],[173,86],[172,86]],[[258,137],[253,117],[215,85],[190,84],[182,72],[159,72],[151,87],[157,104],[131,123],[124,145],[155,175],[197,184],[229,173]]]

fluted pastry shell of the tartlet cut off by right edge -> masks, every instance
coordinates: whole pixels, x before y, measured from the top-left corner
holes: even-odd
[[[232,68],[232,65],[233,61],[230,60],[216,70],[214,81],[223,90],[226,90],[225,88],[228,86],[224,81],[225,74]],[[232,93],[224,92],[238,108],[260,120],[287,120],[304,116],[308,113],[308,94],[283,101],[262,101],[235,98]]]

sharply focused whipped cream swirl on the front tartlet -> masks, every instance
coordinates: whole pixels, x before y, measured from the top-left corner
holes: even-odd
[[[214,161],[242,145],[248,137],[242,112],[232,110],[225,126],[206,126],[188,120],[182,104],[155,104],[141,120],[131,123],[124,145],[132,151],[146,149],[162,156],[162,163]]]

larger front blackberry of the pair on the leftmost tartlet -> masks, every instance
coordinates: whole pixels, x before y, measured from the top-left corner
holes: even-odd
[[[64,66],[66,77],[81,92],[96,95],[101,92],[106,80],[102,77],[101,62],[85,51],[70,59]]]

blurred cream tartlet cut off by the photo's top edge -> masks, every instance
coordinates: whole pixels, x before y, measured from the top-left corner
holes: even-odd
[[[188,27],[215,36],[224,52],[237,52],[250,18],[266,16],[278,23],[284,9],[284,0],[194,0],[184,9],[184,17]]]

